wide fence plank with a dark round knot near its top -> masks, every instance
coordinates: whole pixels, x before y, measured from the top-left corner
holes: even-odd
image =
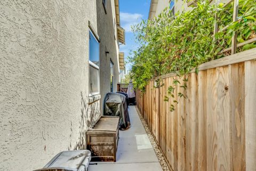
[[[229,96],[229,76],[228,66],[217,68],[217,169],[233,170],[230,166],[231,161],[231,109]]]

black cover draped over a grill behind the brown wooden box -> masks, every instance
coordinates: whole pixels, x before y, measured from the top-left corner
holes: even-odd
[[[119,129],[128,129],[131,125],[126,96],[119,93],[107,93],[104,100],[104,115],[119,116]]]

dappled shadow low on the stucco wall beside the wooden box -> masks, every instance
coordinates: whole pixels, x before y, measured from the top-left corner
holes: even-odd
[[[92,126],[95,121],[100,117],[100,102],[95,101],[93,103],[88,103],[88,97],[84,98],[83,93],[81,91],[81,121],[79,125],[79,137],[78,141],[74,148],[72,148],[71,142],[69,144],[68,150],[85,150],[87,143],[86,143],[86,131],[87,129]],[[72,123],[71,123],[72,127]],[[71,128],[71,134],[73,130]],[[70,138],[71,138],[70,134]]]

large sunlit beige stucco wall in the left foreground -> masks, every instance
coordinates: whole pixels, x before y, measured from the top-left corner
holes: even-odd
[[[0,170],[28,171],[85,148],[100,115],[87,103],[96,0],[2,0],[0,12]]]

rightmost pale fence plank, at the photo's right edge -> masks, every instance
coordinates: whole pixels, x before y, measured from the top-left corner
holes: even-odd
[[[256,61],[245,62],[246,170],[256,170]]]

